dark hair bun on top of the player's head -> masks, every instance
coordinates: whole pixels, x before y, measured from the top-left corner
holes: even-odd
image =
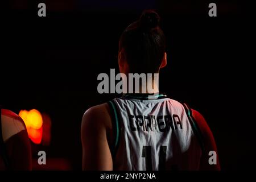
[[[141,22],[142,28],[155,28],[159,26],[160,16],[154,10],[145,10],[139,19],[139,22]]]

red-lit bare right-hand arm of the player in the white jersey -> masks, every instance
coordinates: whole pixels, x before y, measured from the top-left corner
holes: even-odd
[[[199,126],[199,129],[201,130],[201,133],[203,135],[203,142],[204,142],[204,148],[205,148],[205,151],[203,152],[202,158],[201,158],[200,170],[220,170],[220,162],[218,160],[217,146],[216,146],[216,142],[214,140],[212,131],[207,125],[207,122],[205,121],[203,115],[201,115],[198,111],[193,109],[192,109],[192,115],[195,121],[197,122],[197,125]],[[209,155],[210,151],[216,152],[217,164],[209,163],[209,158],[212,156],[212,155]]]

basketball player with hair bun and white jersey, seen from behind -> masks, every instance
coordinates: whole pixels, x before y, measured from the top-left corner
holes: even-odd
[[[165,41],[159,15],[144,11],[119,39],[119,71],[159,73],[167,64]],[[124,94],[91,107],[81,140],[84,170],[220,169],[203,116],[160,93]]]

